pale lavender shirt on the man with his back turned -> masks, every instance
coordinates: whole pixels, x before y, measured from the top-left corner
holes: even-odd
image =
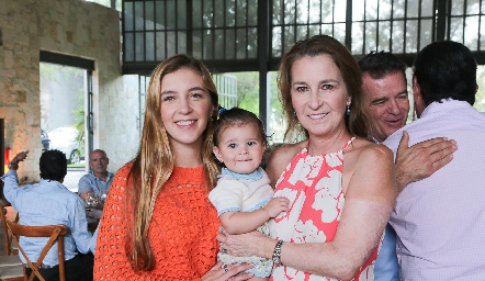
[[[397,151],[432,137],[456,142],[450,164],[411,182],[397,196],[391,224],[397,233],[403,280],[483,280],[485,277],[485,116],[467,102],[433,102],[421,117],[384,144]]]

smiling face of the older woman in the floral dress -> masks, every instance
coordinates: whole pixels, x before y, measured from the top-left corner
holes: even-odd
[[[351,99],[330,56],[304,56],[295,60],[291,76],[293,109],[308,135],[345,131],[345,112]]]

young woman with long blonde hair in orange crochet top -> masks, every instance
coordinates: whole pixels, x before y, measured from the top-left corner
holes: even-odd
[[[176,55],[154,70],[138,154],[114,177],[99,227],[95,280],[247,280],[216,265],[212,156],[217,91],[206,67]]]

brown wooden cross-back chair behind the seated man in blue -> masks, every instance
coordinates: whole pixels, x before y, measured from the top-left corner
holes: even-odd
[[[38,280],[45,281],[42,277],[38,269],[42,266],[42,261],[47,255],[48,250],[53,247],[54,243],[57,240],[57,257],[59,258],[59,280],[66,281],[66,271],[64,268],[64,235],[67,233],[67,227],[65,225],[45,225],[45,226],[25,226],[20,225],[13,222],[7,222],[9,231],[12,233],[12,238],[15,245],[19,247],[20,252],[26,260],[27,265],[23,265],[23,272],[25,280],[27,278],[25,273],[25,267],[32,269],[32,273],[29,277],[29,281],[33,281],[34,277],[37,277]],[[32,262],[29,257],[25,255],[25,251],[20,247],[19,237],[47,237],[48,240],[38,256],[37,261]]]

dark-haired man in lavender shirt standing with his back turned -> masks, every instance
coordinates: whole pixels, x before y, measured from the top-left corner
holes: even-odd
[[[417,54],[413,92],[419,119],[384,145],[399,157],[407,131],[411,145],[444,136],[459,149],[448,165],[397,196],[390,223],[404,281],[485,277],[485,116],[472,108],[476,90],[476,61],[463,44],[435,42]]]

